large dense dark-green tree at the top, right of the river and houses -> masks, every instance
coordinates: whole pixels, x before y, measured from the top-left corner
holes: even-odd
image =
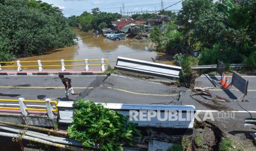
[[[215,43],[232,44],[227,33],[234,32],[222,22],[214,18],[225,18],[220,13],[212,0],[185,0],[182,10],[177,16],[177,24],[181,26],[185,45],[190,52],[194,51],[195,44],[201,43],[202,47],[212,48]]]

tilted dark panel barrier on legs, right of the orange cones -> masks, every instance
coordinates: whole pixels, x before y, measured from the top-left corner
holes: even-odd
[[[242,101],[244,101],[244,97],[247,95],[248,83],[249,82],[247,79],[244,79],[238,73],[233,72],[232,82],[227,86],[227,88],[230,88],[233,85],[243,93],[243,95],[238,97],[236,101],[238,101],[241,97],[243,97]]]

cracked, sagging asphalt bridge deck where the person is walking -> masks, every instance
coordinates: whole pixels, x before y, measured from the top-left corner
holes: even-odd
[[[162,103],[176,104],[184,88],[129,76],[113,74],[67,76],[72,79],[74,91],[82,92],[85,100],[108,103]],[[58,76],[0,76],[0,98],[26,100],[67,101],[64,85]],[[70,96],[72,100],[80,96]]]

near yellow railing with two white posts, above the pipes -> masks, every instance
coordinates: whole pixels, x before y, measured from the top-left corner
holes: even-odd
[[[2,104],[4,107],[0,107],[0,109],[7,109],[7,110],[20,110],[21,114],[24,116],[28,115],[28,111],[46,111],[48,118],[53,119],[54,114],[53,112],[57,112],[57,101],[52,101],[51,98],[46,98],[46,100],[25,100],[24,98],[19,98],[18,100],[10,100],[10,99],[0,99],[1,102],[18,102],[18,104],[10,104],[4,103]],[[29,108],[25,102],[30,103],[45,103],[45,108]],[[55,104],[53,106],[52,104]],[[6,106],[19,106],[19,107],[6,107]],[[31,104],[30,106],[37,106]],[[41,107],[41,106],[40,106]]]

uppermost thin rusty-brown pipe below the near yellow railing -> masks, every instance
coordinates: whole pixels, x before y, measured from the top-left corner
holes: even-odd
[[[6,124],[6,125],[12,125],[12,126],[17,126],[17,127],[25,127],[25,128],[29,128],[29,129],[34,129],[34,130],[39,130],[39,131],[46,131],[46,132],[52,132],[52,133],[58,133],[61,135],[68,135],[68,132],[66,131],[56,131],[56,130],[51,130],[51,129],[45,129],[42,127],[36,127],[36,126],[31,126],[31,125],[24,125],[24,124],[18,124],[18,123],[11,123],[8,121],[1,121],[0,120],[0,124]]]

